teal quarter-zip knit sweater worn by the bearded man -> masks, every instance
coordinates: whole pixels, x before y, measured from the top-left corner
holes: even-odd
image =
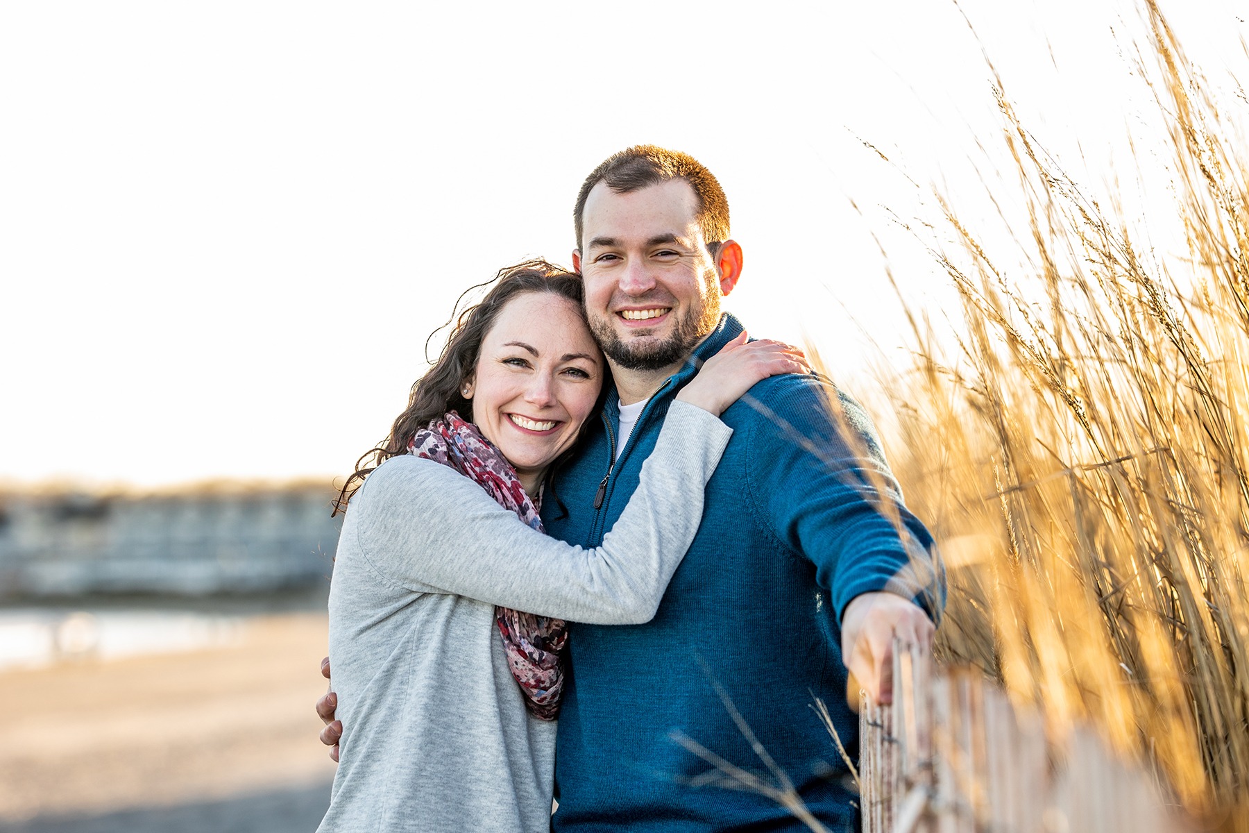
[[[723,316],[694,356],[741,331]],[[615,463],[618,400],[608,396],[602,423],[587,427],[556,475],[557,500],[543,505],[548,533],[602,541],[694,372],[687,365],[651,398]],[[932,574],[932,537],[903,506],[867,415],[844,395],[831,405],[829,390],[816,376],[774,376],[729,407],[721,418],[732,440],[656,617],[571,626],[556,832],[807,829],[772,799],[726,787],[691,751],[776,783],[738,717],[829,829],[857,829],[846,766],[811,706],[823,699],[857,754],[841,614],[859,593],[918,594],[916,576]],[[922,599],[931,611],[934,596]]]

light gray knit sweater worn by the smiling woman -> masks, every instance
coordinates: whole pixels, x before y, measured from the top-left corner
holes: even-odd
[[[525,709],[495,606],[649,621],[731,433],[674,402],[628,507],[592,550],[531,530],[441,463],[392,457],[370,475],[342,525],[330,586],[343,731],[318,829],[550,829],[556,724]]]

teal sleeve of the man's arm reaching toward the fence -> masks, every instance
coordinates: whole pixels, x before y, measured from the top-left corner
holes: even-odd
[[[759,521],[816,566],[841,622],[858,594],[889,591],[933,619],[943,583],[933,538],[902,501],[863,408],[816,376],[778,376],[753,407],[747,488]]]

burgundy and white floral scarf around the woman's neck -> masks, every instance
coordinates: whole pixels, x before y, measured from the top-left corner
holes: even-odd
[[[472,478],[500,506],[516,512],[531,528],[545,532],[538,510],[525,493],[516,470],[477,426],[465,422],[455,411],[417,431],[407,450]],[[535,717],[553,721],[563,694],[561,657],[568,642],[568,626],[563,619],[507,607],[495,608],[495,621],[503,637],[507,666],[525,694],[525,706]]]

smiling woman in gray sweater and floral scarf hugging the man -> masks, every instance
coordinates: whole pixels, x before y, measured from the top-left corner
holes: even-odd
[[[777,342],[728,345],[678,395],[602,546],[573,547],[542,535],[537,507],[557,500],[547,475],[597,412],[605,361],[580,276],[500,272],[361,458],[380,465],[343,487],[330,589],[343,733],[320,829],[548,829],[561,619],[654,616],[728,442],[718,415],[804,370]]]

